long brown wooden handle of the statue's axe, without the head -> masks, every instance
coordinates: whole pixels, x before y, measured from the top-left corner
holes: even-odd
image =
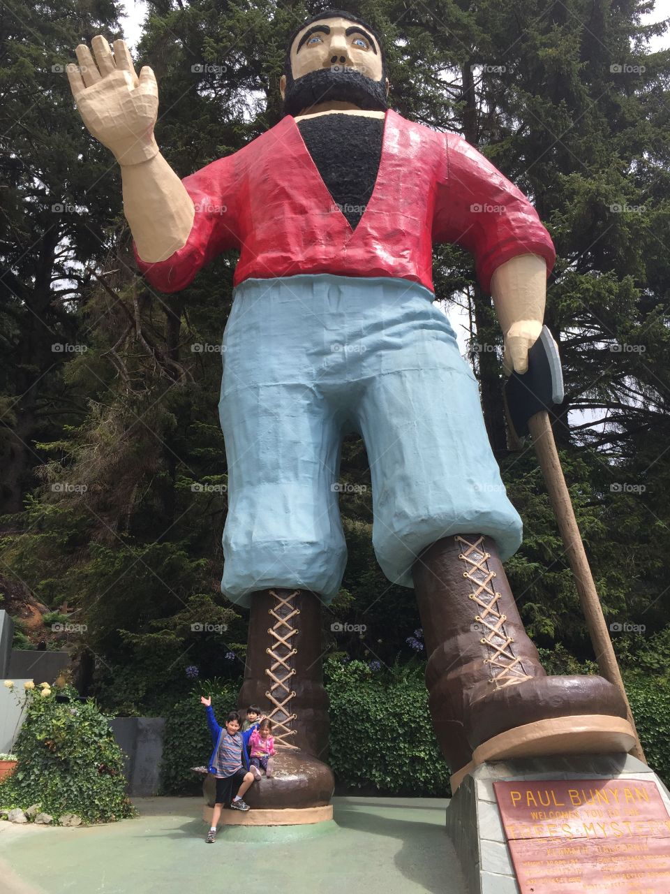
[[[538,460],[540,460],[540,468],[549,491],[549,499],[556,513],[558,528],[565,546],[565,554],[570,562],[570,568],[573,569],[574,579],[577,583],[577,592],[582,603],[582,611],[586,619],[586,626],[589,628],[590,639],[596,653],[600,674],[609,680],[610,683],[614,683],[621,695],[624,696],[628,721],[635,733],[635,745],[631,749],[631,754],[647,763],[640,744],[638,731],[635,729],[635,721],[632,719],[631,705],[628,704],[624,680],[616,662],[616,655],[612,647],[612,640],[609,637],[607,622],[602,613],[596,585],[590,573],[589,561],[584,551],[582,536],[579,533],[579,527],[577,527],[577,519],[574,518],[573,503],[570,499],[567,485],[565,485],[565,477],[560,460],[558,460],[554,432],[549,422],[549,413],[544,410],[536,413],[535,416],[528,420],[528,428],[532,434],[532,443],[537,451]]]

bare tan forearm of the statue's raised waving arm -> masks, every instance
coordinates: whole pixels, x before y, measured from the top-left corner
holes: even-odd
[[[184,184],[159,152],[140,164],[121,164],[123,212],[143,261],[155,263],[181,249],[195,207]]]

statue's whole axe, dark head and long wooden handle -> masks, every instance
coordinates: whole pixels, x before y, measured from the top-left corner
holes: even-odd
[[[540,468],[549,492],[549,500],[556,514],[565,555],[573,570],[582,611],[596,653],[600,675],[609,680],[624,697],[628,721],[635,733],[631,754],[647,763],[640,744],[631,706],[624,689],[619,665],[602,613],[598,592],[590,573],[582,536],[574,517],[570,493],[558,460],[554,432],[549,421],[549,410],[563,402],[563,373],[557,343],[547,326],[542,327],[538,340],[528,352],[528,371],[512,373],[503,387],[509,443],[512,450],[521,450],[523,439],[530,434],[540,460]]]

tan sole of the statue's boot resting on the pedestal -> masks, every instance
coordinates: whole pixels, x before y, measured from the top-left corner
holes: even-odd
[[[631,724],[623,717],[575,714],[525,723],[482,742],[473,759],[449,777],[452,793],[468,773],[486,761],[504,761],[542,755],[627,754],[636,741]]]

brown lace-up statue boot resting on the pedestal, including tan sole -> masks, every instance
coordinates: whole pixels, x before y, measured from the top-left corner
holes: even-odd
[[[626,705],[612,683],[547,676],[489,537],[439,540],[413,575],[431,717],[454,771],[452,789],[484,761],[632,747]]]

